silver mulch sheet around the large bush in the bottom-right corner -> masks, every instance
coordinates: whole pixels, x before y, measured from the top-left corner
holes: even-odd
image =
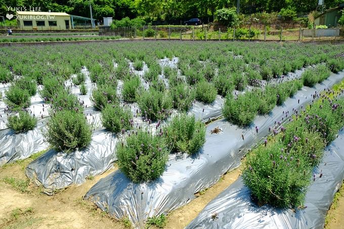
[[[240,177],[205,206],[186,228],[323,228],[327,210],[344,179],[343,149],[344,130],[341,130],[313,171],[315,180],[312,177],[305,209],[259,207],[252,202],[250,190]]]

